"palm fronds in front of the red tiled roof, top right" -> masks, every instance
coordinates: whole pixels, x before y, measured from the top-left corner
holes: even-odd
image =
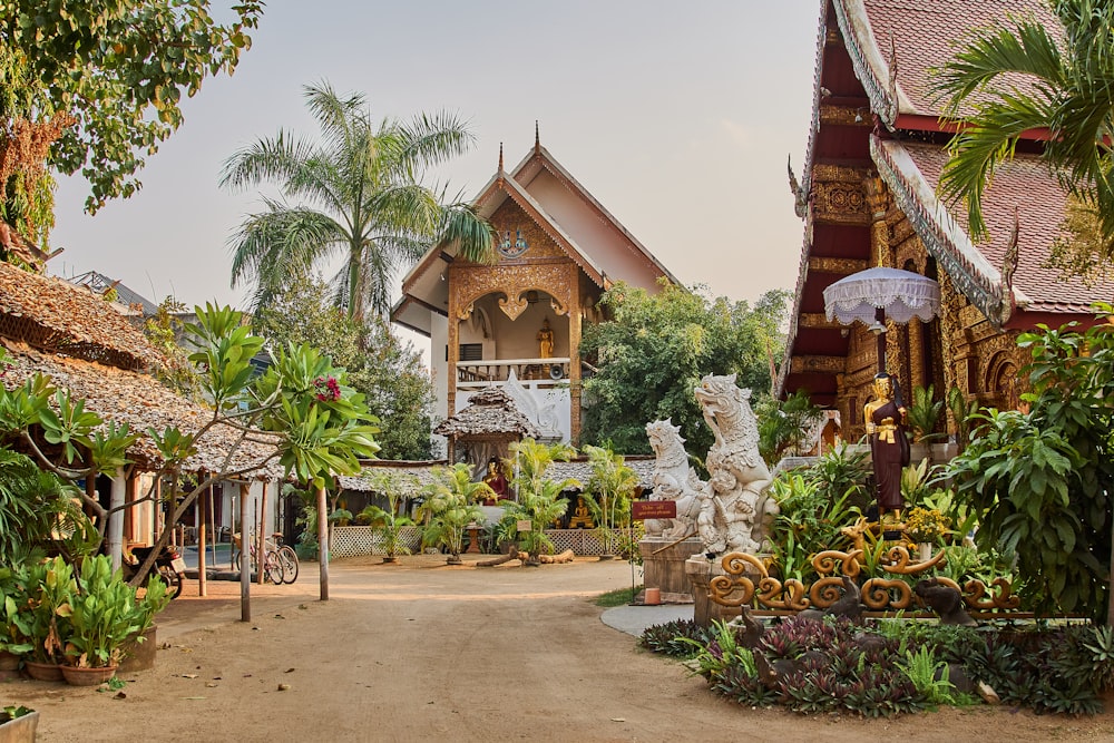
[[[977,31],[937,70],[936,92],[960,124],[940,189],[967,205],[971,237],[987,235],[981,201],[1023,134],[1048,133],[1043,159],[1094,217],[1097,258],[1114,258],[1114,3],[1052,0],[1055,37],[1033,18]],[[1083,247],[1083,245],[1081,245]]]

